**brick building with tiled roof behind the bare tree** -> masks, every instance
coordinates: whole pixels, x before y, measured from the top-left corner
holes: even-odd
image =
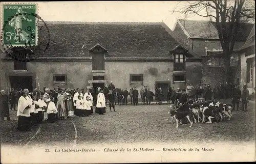
[[[234,50],[242,47],[250,34],[253,24],[241,23],[239,25]],[[202,82],[211,84],[223,83],[223,54],[218,31],[214,22],[205,20],[178,19],[173,32],[183,41],[188,48],[202,57]],[[232,69],[231,79],[234,84],[240,83],[241,61],[237,54],[233,53],[230,59]]]

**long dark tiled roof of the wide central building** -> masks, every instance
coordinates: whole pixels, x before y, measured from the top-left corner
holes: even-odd
[[[179,43],[166,31],[162,22],[46,22],[47,28],[38,32],[39,57],[91,57],[89,49],[96,44],[106,48],[106,57],[113,58],[171,58],[169,51]],[[41,44],[40,44],[41,43]],[[44,45],[43,45],[44,44]]]

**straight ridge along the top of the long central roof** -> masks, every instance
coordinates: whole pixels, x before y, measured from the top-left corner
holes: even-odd
[[[42,22],[42,21],[40,21]],[[89,22],[89,21],[45,21],[47,24],[161,24],[162,22]]]

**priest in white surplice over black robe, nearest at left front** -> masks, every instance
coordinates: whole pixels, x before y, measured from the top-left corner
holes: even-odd
[[[32,101],[27,97],[28,91],[24,90],[22,96],[18,99],[17,116],[18,116],[18,130],[27,131],[30,126],[30,111]]]

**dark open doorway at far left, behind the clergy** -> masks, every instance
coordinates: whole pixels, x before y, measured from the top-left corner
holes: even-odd
[[[9,76],[10,87],[14,89],[28,89],[33,92],[33,76]]]

